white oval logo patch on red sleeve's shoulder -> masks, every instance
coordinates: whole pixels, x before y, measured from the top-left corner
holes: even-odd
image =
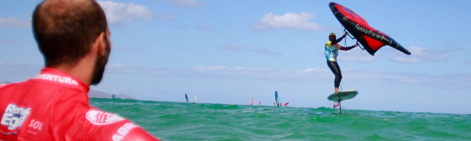
[[[94,125],[107,125],[124,120],[124,118],[121,118],[118,115],[99,110],[89,110],[85,115],[85,118]]]

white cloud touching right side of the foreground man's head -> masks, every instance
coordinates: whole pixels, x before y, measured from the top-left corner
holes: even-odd
[[[154,14],[146,6],[135,3],[97,1],[105,11],[109,24],[129,23],[134,19],[150,19]]]

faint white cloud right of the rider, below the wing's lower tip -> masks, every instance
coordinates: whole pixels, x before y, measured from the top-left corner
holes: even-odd
[[[443,61],[449,57],[448,51],[445,49],[436,49],[436,48],[423,48],[423,47],[407,47],[412,54],[405,55],[402,52],[394,52],[389,58],[406,63],[419,63],[423,61]]]

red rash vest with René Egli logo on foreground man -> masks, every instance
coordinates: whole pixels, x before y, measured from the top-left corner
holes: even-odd
[[[51,68],[0,86],[0,141],[158,141],[129,120],[90,107],[88,91]]]

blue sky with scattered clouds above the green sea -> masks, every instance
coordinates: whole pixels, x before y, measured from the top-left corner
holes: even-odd
[[[44,60],[32,36],[40,1],[0,1],[0,82],[35,76]],[[324,0],[98,1],[112,32],[105,76],[92,90],[140,100],[331,107],[325,63],[330,32],[342,34]],[[339,0],[412,55],[385,46],[372,56],[340,51],[352,110],[471,114],[471,3],[466,0]],[[347,46],[355,44],[347,39]],[[341,42],[343,46],[344,41]],[[191,98],[190,98],[191,99]],[[191,100],[192,101],[192,100]]]

